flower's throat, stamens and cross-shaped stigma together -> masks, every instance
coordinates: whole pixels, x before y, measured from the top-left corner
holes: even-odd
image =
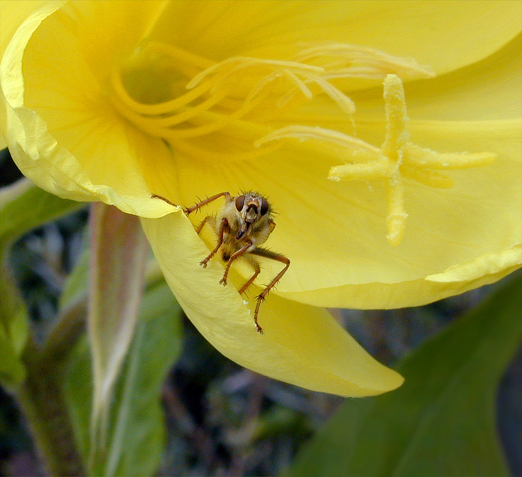
[[[278,149],[280,139],[320,142],[322,152],[331,151],[346,162],[331,168],[330,180],[385,181],[387,239],[392,245],[402,241],[407,219],[403,177],[450,188],[453,182],[438,170],[483,166],[494,160],[490,153],[438,154],[409,142],[399,77],[434,76],[431,68],[368,47],[321,43],[299,45],[296,50],[285,60],[232,57],[212,62],[173,45],[148,42],[113,71],[110,99],[140,130],[191,156],[251,159]],[[347,122],[353,122],[355,105],[339,85],[356,78],[384,80],[387,129],[380,148],[322,127],[271,127],[278,112],[318,95],[329,97]],[[223,152],[201,146],[201,137],[224,128],[227,134],[220,142],[235,134],[243,145],[232,143],[231,150]]]

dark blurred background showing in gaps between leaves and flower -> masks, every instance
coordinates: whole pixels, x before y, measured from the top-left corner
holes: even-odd
[[[0,151],[0,186],[18,178],[8,151]],[[84,248],[87,219],[85,207],[31,231],[12,248],[11,269],[37,335],[55,317],[64,282]],[[370,354],[393,365],[495,286],[414,309],[331,312]],[[159,476],[275,475],[344,401],[239,367],[186,318],[183,333],[183,352],[161,396],[168,435]],[[511,471],[522,476],[521,350],[499,386],[497,425]],[[0,476],[42,475],[23,415],[0,388]]]

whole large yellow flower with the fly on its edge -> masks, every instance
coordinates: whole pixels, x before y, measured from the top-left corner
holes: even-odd
[[[517,1],[5,3],[16,163],[142,217],[179,303],[232,360],[344,396],[394,389],[316,306],[424,304],[521,265]],[[268,246],[292,263],[263,336],[255,299],[198,265],[215,236],[151,198],[242,189],[270,198]],[[263,263],[259,283],[279,270]]]

